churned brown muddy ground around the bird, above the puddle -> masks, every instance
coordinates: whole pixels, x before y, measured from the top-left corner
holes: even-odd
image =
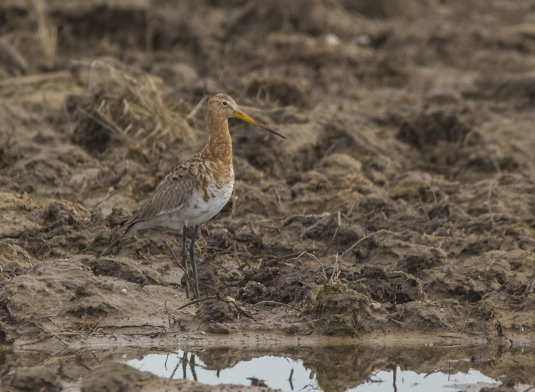
[[[530,342],[531,1],[177,3],[49,0],[55,56],[33,5],[0,5],[0,342]],[[231,121],[234,197],[201,226],[202,303],[181,308],[179,232],[119,223],[205,135],[137,154],[88,113],[95,59],[148,73],[186,113],[228,93],[287,136]],[[204,106],[191,120],[203,129]]]

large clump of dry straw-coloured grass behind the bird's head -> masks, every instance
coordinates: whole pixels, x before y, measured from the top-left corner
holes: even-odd
[[[96,60],[91,64],[88,90],[90,99],[80,105],[86,119],[111,130],[143,155],[197,134],[190,125],[195,110],[185,113],[189,112],[186,104],[168,105],[154,80],[141,70]]]

